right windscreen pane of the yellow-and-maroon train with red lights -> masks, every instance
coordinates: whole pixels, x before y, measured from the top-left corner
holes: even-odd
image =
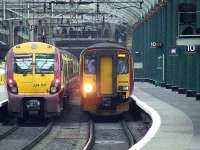
[[[55,59],[53,54],[37,54],[35,56],[35,72],[53,73],[54,63]]]

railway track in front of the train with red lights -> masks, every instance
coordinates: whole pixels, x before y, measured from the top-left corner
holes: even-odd
[[[0,136],[0,150],[30,150],[51,131],[53,123],[46,127],[14,126]]]

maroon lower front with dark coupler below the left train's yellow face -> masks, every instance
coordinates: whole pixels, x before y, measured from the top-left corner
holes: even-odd
[[[24,119],[28,117],[52,118],[63,110],[63,92],[53,95],[14,95],[9,93],[8,110],[11,115]]]

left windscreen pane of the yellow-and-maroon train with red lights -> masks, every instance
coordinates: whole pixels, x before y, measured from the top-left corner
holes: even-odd
[[[32,73],[32,55],[15,56],[14,71],[18,74]]]

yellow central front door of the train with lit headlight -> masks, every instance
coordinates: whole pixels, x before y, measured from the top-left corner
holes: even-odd
[[[112,94],[112,57],[100,57],[100,93]]]

